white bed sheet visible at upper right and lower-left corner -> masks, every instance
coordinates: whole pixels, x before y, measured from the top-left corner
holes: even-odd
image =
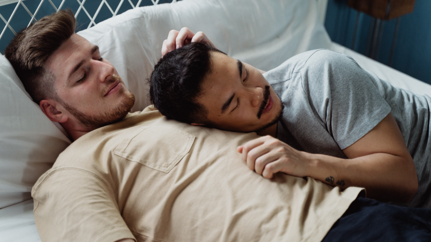
[[[421,95],[431,95],[431,85],[378,63],[337,43],[332,43],[331,49],[352,56],[362,68],[374,72],[378,77],[390,82],[394,86]],[[0,209],[0,241],[40,241],[33,217],[32,199]]]

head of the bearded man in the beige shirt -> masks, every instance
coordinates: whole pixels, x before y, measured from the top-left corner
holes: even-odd
[[[5,56],[47,117],[68,132],[88,132],[122,119],[134,96],[75,25],[70,10],[46,16],[18,33]]]

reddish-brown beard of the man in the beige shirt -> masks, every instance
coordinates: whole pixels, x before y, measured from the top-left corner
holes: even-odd
[[[119,76],[115,75],[113,79],[108,81],[107,87],[118,79],[121,80]],[[131,108],[135,103],[135,96],[131,92],[124,93],[123,89],[119,91],[120,91],[120,94],[124,94],[124,95],[123,95],[123,99],[117,106],[112,107],[111,109],[106,110],[105,112],[94,114],[94,115],[85,114],[79,111],[77,108],[67,103],[64,103],[63,101],[61,102],[62,102],[62,105],[66,108],[66,110],[70,112],[73,116],[75,116],[75,118],[78,120],[79,123],[81,123],[81,125],[83,125],[88,130],[92,131],[118,122],[119,120],[123,119],[127,115],[127,113],[131,110]]]

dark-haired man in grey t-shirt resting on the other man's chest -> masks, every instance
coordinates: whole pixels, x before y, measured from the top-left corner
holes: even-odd
[[[195,63],[199,75],[190,73]],[[266,178],[310,176],[364,187],[379,201],[431,208],[431,98],[392,87],[348,56],[308,51],[262,75],[193,43],[161,58],[150,81],[151,100],[168,118],[270,135],[237,148]]]

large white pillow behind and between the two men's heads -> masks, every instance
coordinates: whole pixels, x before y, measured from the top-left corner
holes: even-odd
[[[79,32],[99,45],[136,96],[133,111],[150,104],[146,78],[171,29],[203,31],[228,55],[270,70],[295,54],[329,48],[316,0],[183,0],[129,10]]]

